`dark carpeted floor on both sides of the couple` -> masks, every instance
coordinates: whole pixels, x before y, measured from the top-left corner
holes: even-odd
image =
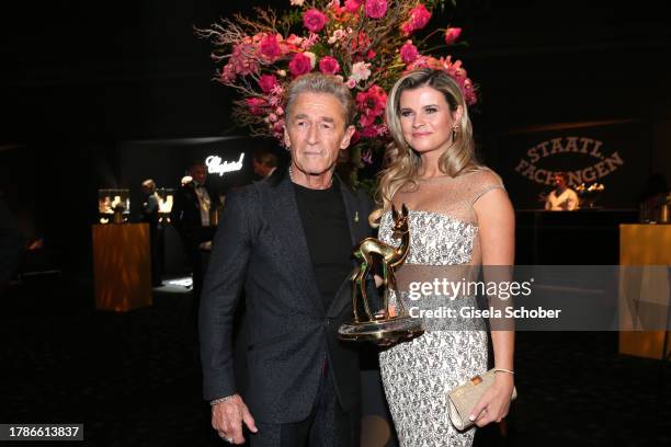
[[[223,446],[201,399],[189,293],[96,311],[92,285],[36,278],[0,299],[0,423],[83,423],[82,442],[16,446]],[[518,334],[514,402],[484,446],[669,446],[671,367],[617,354],[617,333]],[[505,436],[502,435],[505,433]]]

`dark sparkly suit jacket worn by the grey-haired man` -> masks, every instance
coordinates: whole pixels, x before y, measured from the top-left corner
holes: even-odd
[[[339,183],[353,247],[371,236],[367,217],[373,204],[363,191]],[[242,287],[248,325],[243,399],[252,415],[266,423],[306,419],[325,365],[343,410],[359,405],[357,346],[337,337],[338,328],[352,319],[351,283],[343,277],[325,309],[294,187],[284,170],[227,196],[200,310],[206,400],[239,392],[231,329]],[[368,289],[376,294],[372,282]]]

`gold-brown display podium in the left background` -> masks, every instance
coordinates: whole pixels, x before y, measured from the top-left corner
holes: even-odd
[[[95,308],[127,310],[151,306],[148,224],[93,225]]]

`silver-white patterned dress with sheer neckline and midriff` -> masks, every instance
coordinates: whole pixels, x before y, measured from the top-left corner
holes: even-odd
[[[457,177],[419,181],[399,191],[396,208],[413,204],[409,213],[410,251],[396,272],[399,296],[406,311],[477,306],[475,296],[448,299],[421,294],[417,285],[434,278],[458,282],[476,275],[481,264],[475,202],[493,188],[503,188],[501,179],[489,169]],[[410,207],[409,207],[410,208]],[[391,236],[391,213],[380,220],[379,239],[398,247]],[[464,447],[473,444],[475,429],[458,432],[450,422],[447,393],[458,383],[487,370],[488,335],[482,320],[423,318],[425,332],[379,354],[380,374],[394,425],[402,447]]]

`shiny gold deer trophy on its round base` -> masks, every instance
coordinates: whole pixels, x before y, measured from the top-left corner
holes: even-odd
[[[398,213],[391,207],[394,227],[391,232],[394,238],[400,238],[398,248],[388,245],[375,238],[366,238],[354,248],[352,255],[356,260],[356,266],[352,271],[352,306],[354,320],[349,324],[343,324],[338,330],[338,337],[343,341],[354,342],[395,342],[399,339],[410,339],[421,335],[424,332],[422,321],[408,316],[403,307],[400,294],[396,287],[396,276],[394,272],[400,266],[410,249],[410,229],[408,225],[408,208],[402,206],[402,213]],[[371,313],[371,306],[366,297],[366,275],[373,266],[374,255],[382,260],[383,270],[383,309],[375,314]],[[395,290],[398,303],[398,312],[391,316],[389,312],[389,286]],[[363,302],[363,308],[367,319],[359,317],[359,296]]]

